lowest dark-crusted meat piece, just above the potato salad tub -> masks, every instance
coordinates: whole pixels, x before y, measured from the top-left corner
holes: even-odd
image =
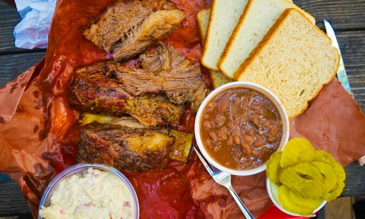
[[[80,130],[79,163],[114,166],[126,172],[163,169],[175,142],[168,130],[92,123]]]

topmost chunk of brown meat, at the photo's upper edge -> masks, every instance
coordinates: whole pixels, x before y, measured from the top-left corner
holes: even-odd
[[[118,0],[83,32],[115,60],[130,58],[175,30],[185,13],[166,0]]]

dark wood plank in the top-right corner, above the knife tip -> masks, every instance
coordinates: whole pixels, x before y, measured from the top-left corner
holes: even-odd
[[[317,26],[324,29],[323,18],[338,30],[365,28],[365,0],[293,0],[310,13]]]

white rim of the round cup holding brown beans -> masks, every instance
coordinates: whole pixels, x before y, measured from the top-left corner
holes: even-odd
[[[196,118],[195,118],[194,132],[195,132],[195,139],[196,139],[197,145],[198,145],[202,155],[204,156],[204,158],[207,159],[207,161],[210,164],[212,164],[217,169],[219,169],[223,172],[227,172],[227,173],[230,173],[230,174],[236,175],[236,176],[254,175],[256,173],[260,173],[260,172],[264,171],[266,169],[266,163],[261,166],[258,166],[256,168],[247,169],[247,170],[233,170],[233,169],[227,168],[227,167],[219,164],[218,162],[216,162],[207,153],[207,151],[205,150],[203,143],[201,141],[201,133],[200,133],[200,120],[201,119],[200,118],[201,118],[201,114],[202,114],[203,110],[205,109],[205,106],[214,96],[216,96],[217,94],[219,94],[220,92],[222,92],[224,90],[231,89],[231,88],[232,89],[241,88],[241,89],[251,89],[251,90],[254,89],[254,90],[260,92],[261,94],[263,94],[264,96],[266,96],[267,98],[269,98],[274,103],[274,105],[277,108],[278,113],[282,119],[282,125],[283,125],[281,142],[276,149],[277,151],[283,150],[285,144],[289,140],[289,118],[288,118],[285,108],[284,108],[283,104],[281,103],[281,101],[279,100],[279,98],[269,89],[267,89],[261,85],[258,85],[256,83],[253,83],[253,82],[235,81],[235,82],[230,82],[230,83],[224,84],[224,85],[218,87],[217,89],[213,90],[212,92],[210,92],[209,95],[207,97],[205,97],[205,99],[201,103],[199,110],[196,114]]]

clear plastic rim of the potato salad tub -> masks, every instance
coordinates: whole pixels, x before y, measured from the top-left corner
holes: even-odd
[[[69,173],[71,173],[72,171],[75,171],[77,169],[82,169],[85,168],[84,171],[87,170],[87,168],[96,168],[99,170],[103,170],[103,171],[109,171],[110,173],[116,175],[120,180],[122,180],[128,187],[130,194],[132,195],[133,198],[133,202],[135,205],[135,219],[139,218],[139,202],[138,202],[138,197],[136,194],[136,191],[134,190],[134,187],[132,185],[132,183],[129,182],[128,178],[121,173],[119,170],[115,169],[114,167],[111,166],[107,166],[104,164],[91,164],[91,163],[86,163],[86,164],[74,164],[72,166],[69,166],[68,168],[62,170],[60,173],[58,173],[55,178],[52,179],[52,181],[47,185],[46,189],[44,190],[43,194],[42,194],[42,198],[39,201],[39,206],[38,206],[38,218],[37,219],[42,219],[41,217],[39,217],[39,210],[42,208],[42,205],[44,204],[44,202],[46,201],[46,198],[50,199],[52,194],[49,194],[49,192],[51,192],[52,189],[55,189],[55,187],[58,185],[58,183],[61,182],[62,178],[64,178],[66,175],[68,175]],[[80,174],[82,172],[79,173],[75,173],[75,174]],[[72,175],[70,175],[72,176]],[[70,177],[67,176],[67,177]]]

